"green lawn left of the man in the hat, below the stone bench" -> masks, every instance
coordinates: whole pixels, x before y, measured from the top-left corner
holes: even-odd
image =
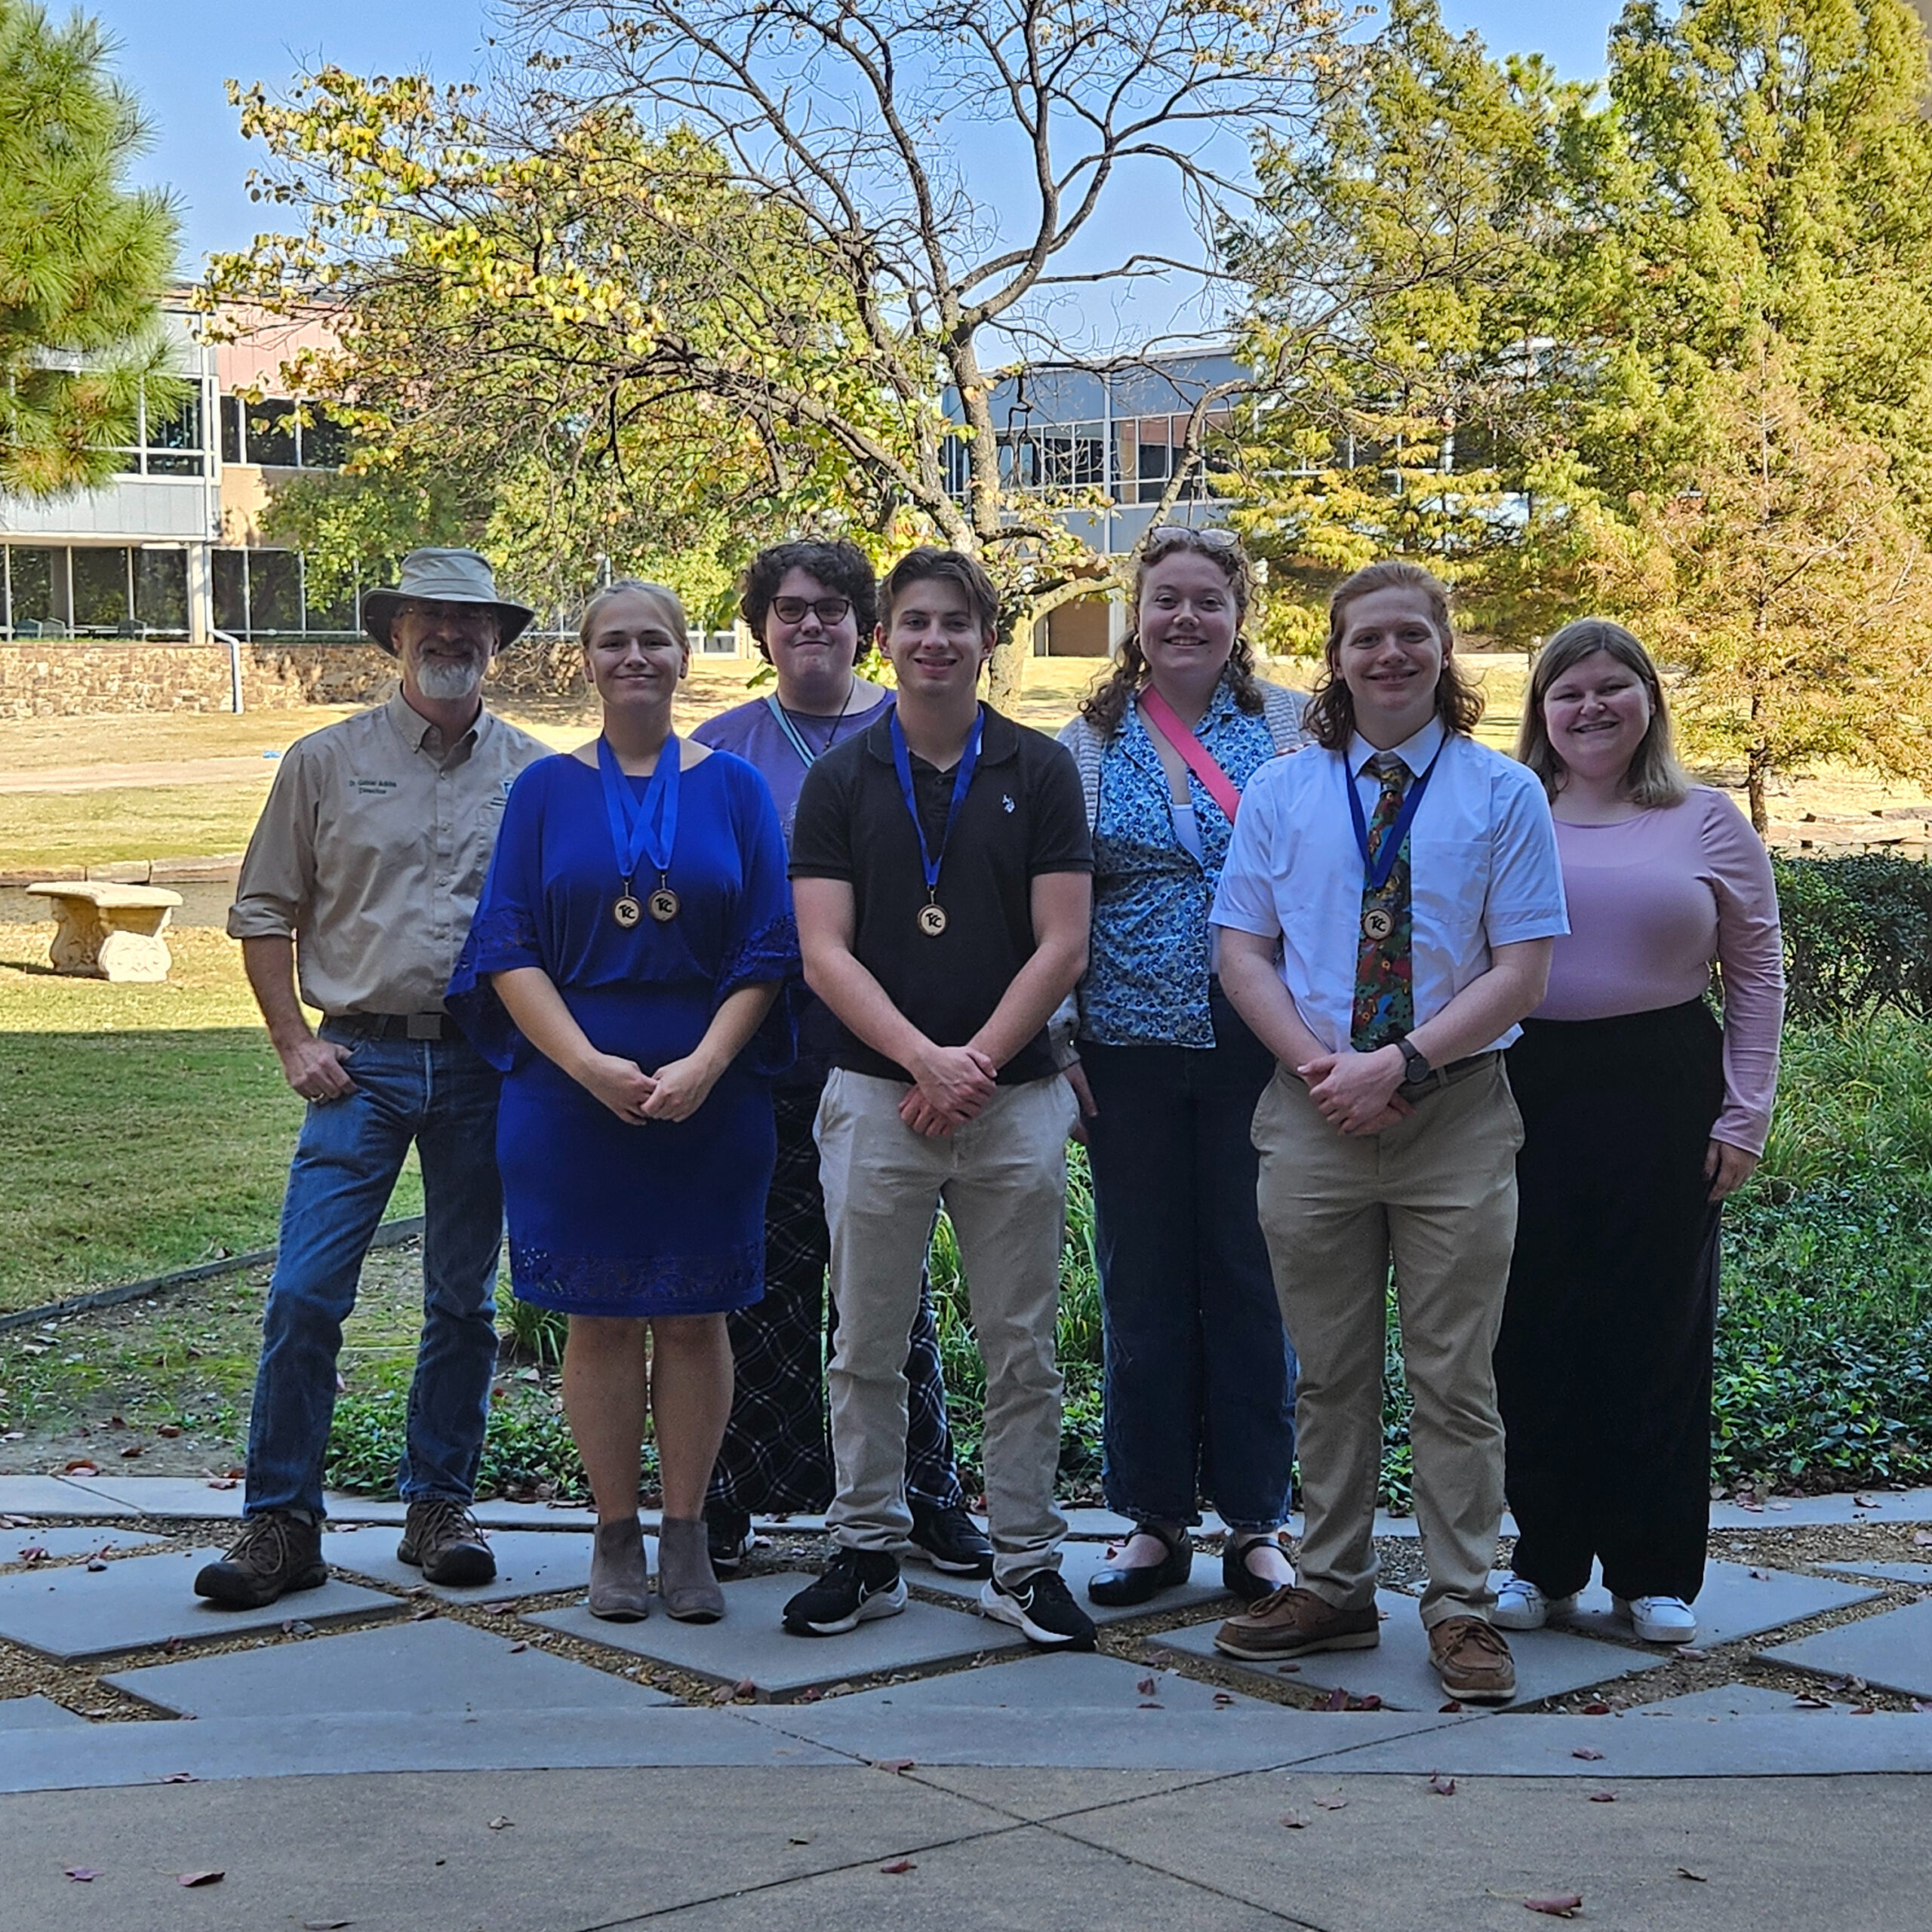
[[[301,1101],[255,1020],[240,947],[170,935],[174,980],[50,974],[0,927],[0,1310],[274,1240]],[[394,1213],[415,1213],[413,1167]]]

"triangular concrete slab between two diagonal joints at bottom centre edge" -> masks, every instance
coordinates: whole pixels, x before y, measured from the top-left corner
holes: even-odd
[[[1049,1907],[1051,1901],[1051,1907]],[[1161,1932],[1281,1932],[1277,1911],[1240,1905],[1219,1888],[1150,1872],[1130,1857],[1072,1845],[1039,1826],[993,1841],[931,1845],[910,1870],[873,1864],[800,1878],[686,1907],[680,1932],[1014,1932],[1018,1926],[1103,1922]]]

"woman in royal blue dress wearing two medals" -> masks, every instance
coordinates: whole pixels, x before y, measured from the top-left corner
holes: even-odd
[[[690,668],[678,599],[614,583],[580,636],[603,734],[512,786],[450,1003],[508,1074],[497,1159],[516,1294],[570,1316],[564,1412],[597,1499],[591,1613],[649,1607],[649,1410],[659,1590],[672,1617],[711,1621],[724,1316],[763,1294],[771,1076],[790,1059],[773,1003],[798,935],[765,781],[670,728]]]

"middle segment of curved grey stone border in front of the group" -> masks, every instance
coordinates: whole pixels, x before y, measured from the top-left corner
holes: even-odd
[[[1466,1723],[1466,1718],[1403,1712],[1256,1708],[1225,1710],[974,1710],[920,1704],[883,1710],[858,1698],[823,1704],[761,1704],[746,1716],[790,1737],[854,1758],[912,1764],[1010,1764],[1074,1770],[1246,1772],[1302,1758],[1327,1758]],[[854,1708],[856,1706],[856,1708]]]

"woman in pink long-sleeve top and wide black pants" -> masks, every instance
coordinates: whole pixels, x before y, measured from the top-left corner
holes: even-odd
[[[1685,779],[1621,624],[1549,639],[1517,755],[1549,792],[1571,929],[1509,1053],[1522,1208],[1495,1383],[1519,1538],[1495,1621],[1563,1615],[1600,1559],[1636,1634],[1681,1644],[1704,1584],[1719,1204],[1764,1153],[1777,1086],[1777,896],[1745,815]]]

